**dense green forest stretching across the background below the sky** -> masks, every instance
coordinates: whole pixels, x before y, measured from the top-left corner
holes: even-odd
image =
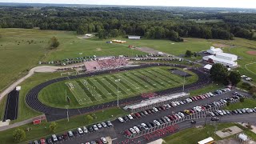
[[[254,39],[255,14],[191,14],[186,10],[177,16],[174,11],[139,8],[74,8],[31,6],[0,9],[0,27],[38,27],[41,30],[74,30],[77,34],[98,33],[99,38],[113,38],[126,34],[145,38],[168,38],[182,42],[182,38],[235,37]],[[197,23],[191,18],[222,19],[223,22]]]

